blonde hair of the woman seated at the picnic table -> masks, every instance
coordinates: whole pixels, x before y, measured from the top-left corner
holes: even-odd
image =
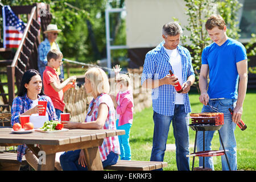
[[[109,93],[109,78],[101,68],[89,68],[85,77],[90,80],[93,94],[99,96],[101,93]]]

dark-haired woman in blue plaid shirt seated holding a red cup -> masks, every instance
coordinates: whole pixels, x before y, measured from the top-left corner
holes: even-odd
[[[11,106],[11,125],[20,123],[20,115],[39,114],[44,110],[42,105],[38,105],[38,101],[47,101],[46,115],[49,120],[56,120],[57,115],[52,104],[51,98],[45,96],[43,93],[42,78],[38,71],[29,69],[22,76],[20,82],[18,97],[14,98]],[[43,110],[42,110],[43,109]],[[35,154],[26,146],[26,144],[19,145],[17,148],[17,160],[22,162],[22,157],[25,158],[32,168],[38,170],[39,160]],[[59,163],[59,156],[56,154],[55,167],[61,170]]]

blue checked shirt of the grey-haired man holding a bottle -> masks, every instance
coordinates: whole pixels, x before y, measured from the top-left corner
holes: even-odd
[[[143,84],[143,82],[148,78],[151,78],[152,80],[159,80],[170,74],[170,70],[174,72],[171,64],[169,63],[170,57],[167,55],[166,50],[164,50],[163,45],[164,42],[160,43],[156,48],[146,54],[141,84]],[[189,76],[195,75],[192,67],[191,55],[188,49],[182,46],[178,46],[177,50],[181,57],[182,81],[186,82]],[[153,110],[162,115],[174,115],[175,92],[174,86],[168,84],[152,89],[151,97]],[[188,93],[183,94],[183,96],[185,112],[190,113],[191,106]]]

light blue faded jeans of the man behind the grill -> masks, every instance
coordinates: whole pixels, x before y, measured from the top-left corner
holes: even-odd
[[[237,143],[236,137],[234,135],[234,130],[236,129],[236,123],[232,122],[232,117],[229,112],[229,107],[234,109],[236,106],[236,99],[221,99],[221,100],[209,100],[209,105],[218,108],[218,112],[224,113],[224,125],[221,127],[220,135],[222,138],[222,142],[224,144],[226,154],[228,156],[229,164],[231,170],[237,170]],[[203,106],[202,113],[204,112],[215,112],[210,106]],[[215,131],[205,131],[205,151],[211,150],[211,142],[213,138],[213,134]],[[220,144],[221,145],[221,144]],[[222,146],[220,146],[220,150]],[[198,131],[197,133],[197,151],[203,151],[203,131]],[[225,155],[221,156],[222,170],[229,170],[228,163],[226,162]],[[203,166],[203,157],[199,157],[199,166]],[[212,168],[213,166],[213,158],[205,157],[205,167]]]

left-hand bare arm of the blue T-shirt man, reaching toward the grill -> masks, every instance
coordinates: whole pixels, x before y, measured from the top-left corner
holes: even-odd
[[[209,65],[208,64],[202,64],[201,65],[200,76],[199,76],[199,89],[200,89],[200,92],[201,92],[199,100],[204,105],[207,105],[208,101],[209,101],[209,96],[208,96],[208,93],[207,93],[208,73],[209,73]]]

